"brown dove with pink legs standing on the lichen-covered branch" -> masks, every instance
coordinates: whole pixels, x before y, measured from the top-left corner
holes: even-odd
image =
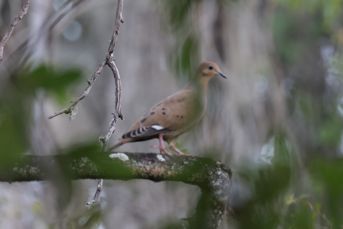
[[[206,86],[216,75],[227,78],[214,62],[202,62],[186,87],[144,113],[108,151],[128,142],[158,138],[159,145],[152,148],[159,149],[161,154],[172,155],[164,147],[164,141],[166,141],[170,150],[179,155],[190,156],[177,149],[175,141],[202,118],[207,104]]]

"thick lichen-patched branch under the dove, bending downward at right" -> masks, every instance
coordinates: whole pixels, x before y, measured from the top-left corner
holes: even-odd
[[[61,175],[68,176],[66,179],[74,180],[102,177],[112,180],[180,181],[197,185],[202,195],[194,215],[186,219],[189,229],[218,228],[225,212],[232,176],[232,171],[225,164],[209,158],[94,152],[84,148],[55,156],[22,156],[2,168],[0,181],[54,182],[59,171],[62,171]],[[98,184],[98,187],[101,185]]]

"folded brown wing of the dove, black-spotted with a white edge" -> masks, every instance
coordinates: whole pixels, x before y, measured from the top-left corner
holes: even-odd
[[[202,116],[203,107],[199,101],[194,88],[187,86],[153,106],[122,138],[139,141],[155,138],[159,133],[188,129],[197,116]]]

